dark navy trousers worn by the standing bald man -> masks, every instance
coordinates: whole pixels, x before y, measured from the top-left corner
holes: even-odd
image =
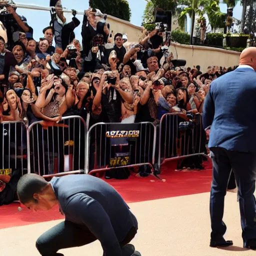
[[[253,195],[256,152],[245,153],[212,147],[210,148],[210,156],[213,164],[210,190],[211,239],[221,241],[226,231],[226,225],[222,221],[224,196],[232,169],[238,187],[242,238],[246,244],[248,239],[256,238],[256,204]]]

